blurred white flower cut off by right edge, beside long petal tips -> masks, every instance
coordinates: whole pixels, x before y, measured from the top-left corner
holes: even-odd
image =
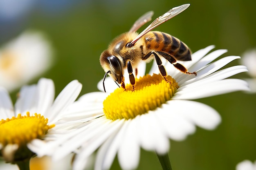
[[[250,92],[256,93],[256,49],[246,51],[242,55],[241,63],[247,66],[248,74],[252,77],[245,79],[249,84]]]

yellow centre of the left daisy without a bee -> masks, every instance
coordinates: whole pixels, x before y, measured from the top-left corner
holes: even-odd
[[[7,144],[18,144],[19,146],[29,143],[33,139],[40,139],[47,133],[50,128],[55,125],[47,125],[48,119],[40,114],[35,113],[30,116],[7,118],[0,121],[0,144],[6,146]]]

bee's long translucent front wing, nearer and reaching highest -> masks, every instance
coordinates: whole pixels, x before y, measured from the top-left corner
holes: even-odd
[[[175,17],[179,13],[182,13],[185,9],[189,7],[190,4],[183,4],[179,7],[174,7],[164,13],[164,15],[159,16],[157,19],[155,19],[146,29],[144,29],[132,42],[130,42],[130,45],[134,45],[135,42],[137,42],[141,37],[143,37],[146,33],[157,27],[158,25],[170,20],[171,18]]]

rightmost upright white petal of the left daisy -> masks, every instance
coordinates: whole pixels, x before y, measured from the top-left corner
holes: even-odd
[[[59,119],[62,110],[65,110],[67,106],[72,104],[78,97],[82,89],[82,84],[77,80],[73,80],[61,91],[61,93],[56,97],[53,105],[48,112],[51,115],[48,115],[49,124],[54,123]]]

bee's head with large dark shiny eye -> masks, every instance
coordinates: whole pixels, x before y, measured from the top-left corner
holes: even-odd
[[[106,74],[118,84],[121,84],[123,77],[123,64],[115,55],[111,55],[108,51],[103,51],[100,57],[100,63]],[[105,77],[105,76],[104,76]]]

